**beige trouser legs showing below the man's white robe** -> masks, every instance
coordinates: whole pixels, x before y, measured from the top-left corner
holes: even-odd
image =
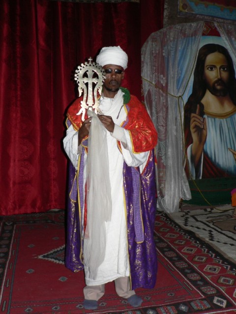
[[[134,295],[134,290],[130,290],[129,277],[120,277],[114,280],[115,288],[118,296],[122,298],[129,298]],[[105,293],[105,284],[98,286],[86,286],[84,288],[85,299],[98,301]]]

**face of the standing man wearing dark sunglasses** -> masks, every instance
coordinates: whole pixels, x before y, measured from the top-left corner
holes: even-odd
[[[103,82],[103,93],[106,91],[109,93],[114,93],[114,96],[118,92],[119,86],[122,79],[124,78],[124,69],[115,64],[106,64],[103,66],[106,78]]]

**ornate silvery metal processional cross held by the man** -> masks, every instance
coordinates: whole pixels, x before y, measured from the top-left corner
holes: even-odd
[[[99,110],[98,94],[102,94],[102,84],[106,78],[105,72],[98,63],[92,62],[89,58],[89,63],[81,64],[75,71],[75,80],[78,84],[79,97],[83,95],[81,101],[81,108],[77,115],[82,114],[82,121],[85,121],[86,109],[94,110],[94,112],[101,113]],[[87,87],[88,86],[88,87]]]

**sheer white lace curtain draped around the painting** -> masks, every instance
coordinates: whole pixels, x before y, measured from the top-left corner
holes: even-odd
[[[236,64],[236,26],[215,23]],[[184,100],[203,33],[204,22],[186,23],[152,33],[142,47],[144,99],[158,132],[157,207],[179,209],[191,199],[184,170]]]

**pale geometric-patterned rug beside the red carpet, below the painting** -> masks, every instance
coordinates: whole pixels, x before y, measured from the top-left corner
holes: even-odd
[[[236,262],[236,219],[231,205],[179,211],[169,214],[171,219],[216,248],[232,262]]]

